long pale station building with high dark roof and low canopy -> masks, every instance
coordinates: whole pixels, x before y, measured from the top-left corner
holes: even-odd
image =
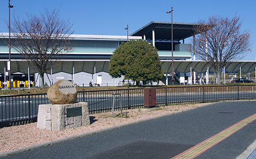
[[[196,79],[202,79],[202,73],[206,74],[205,84],[208,84],[209,72],[214,72],[213,67],[208,62],[195,60],[195,57],[192,60],[191,44],[184,43],[185,39],[195,36],[193,31],[195,25],[197,24],[173,22],[175,84],[196,84]],[[7,85],[4,84],[8,83],[7,61],[9,49],[4,40],[7,35],[7,33],[0,33],[0,81],[3,88],[6,88]],[[122,42],[127,42],[127,39],[144,39],[153,43],[153,46],[158,49],[158,55],[165,73],[165,79],[153,84],[171,84],[171,22],[151,21],[128,37],[118,35],[71,35],[70,39],[74,46],[73,51],[65,54],[47,71],[45,75],[47,85],[60,79],[70,80],[81,87],[88,87],[90,81],[100,86],[121,85],[123,77],[116,79],[108,74],[109,59],[114,50]],[[255,70],[255,65],[256,61],[233,61],[228,63],[225,70],[227,72],[251,72]],[[195,73],[192,74],[192,72]],[[196,72],[200,74],[199,77],[196,76]],[[11,49],[11,77],[13,87],[31,87],[41,84],[38,72],[30,67],[23,56],[15,52],[14,49]]]

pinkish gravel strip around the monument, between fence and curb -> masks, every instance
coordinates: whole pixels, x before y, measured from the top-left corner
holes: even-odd
[[[89,133],[95,130],[111,128],[112,126],[165,115],[167,113],[196,108],[206,104],[207,103],[196,103],[191,105],[162,106],[157,108],[155,111],[143,111],[141,108],[123,110],[124,115],[122,117],[120,117],[120,111],[115,111],[114,117],[111,117],[111,112],[96,113],[90,115],[90,125],[62,131],[37,129],[37,122],[6,127],[0,129],[0,153],[46,143],[52,140],[72,137],[78,134]]]

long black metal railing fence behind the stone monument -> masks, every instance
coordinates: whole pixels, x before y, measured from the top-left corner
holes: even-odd
[[[156,88],[157,106],[177,103],[255,99],[256,85],[185,86]],[[0,96],[0,125],[37,120],[38,105],[50,103],[47,94]],[[87,102],[90,113],[144,106],[144,89],[80,91],[77,102]]]

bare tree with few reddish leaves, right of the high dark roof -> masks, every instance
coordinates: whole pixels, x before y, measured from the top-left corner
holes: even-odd
[[[221,72],[228,61],[241,60],[251,51],[250,33],[241,31],[239,17],[211,16],[208,21],[198,22],[193,47],[200,60],[209,62],[217,73],[220,84]]]

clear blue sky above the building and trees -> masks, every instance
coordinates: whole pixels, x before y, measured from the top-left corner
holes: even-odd
[[[138,30],[151,21],[171,21],[171,15],[166,14],[173,7],[173,22],[197,22],[206,20],[210,16],[225,16],[230,19],[240,16],[242,30],[248,29],[252,43],[256,42],[256,1],[201,1],[201,0],[11,0],[12,17],[23,19],[26,13],[37,14],[60,9],[60,15],[73,23],[74,34],[89,35],[127,35]],[[5,20],[8,20],[8,0],[0,0],[0,32],[8,32]],[[190,43],[185,40],[185,43]],[[255,60],[256,47],[244,60]]]

